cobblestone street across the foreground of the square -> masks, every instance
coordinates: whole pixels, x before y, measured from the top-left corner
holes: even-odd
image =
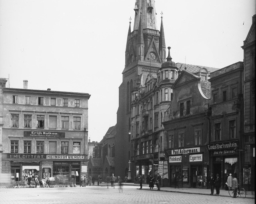
[[[123,192],[119,188],[106,186],[86,186],[77,188],[0,188],[0,200],[3,204],[205,204],[232,203],[254,204],[254,199],[208,196],[198,194],[184,194],[176,192],[162,192],[138,190],[138,186],[124,186]]]

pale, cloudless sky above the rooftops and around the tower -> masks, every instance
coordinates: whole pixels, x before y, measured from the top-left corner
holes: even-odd
[[[10,88],[91,94],[88,136],[116,124],[135,0],[0,0],[0,78]],[[223,68],[243,61],[255,0],[155,0],[174,62]],[[7,82],[8,87],[8,82]]]

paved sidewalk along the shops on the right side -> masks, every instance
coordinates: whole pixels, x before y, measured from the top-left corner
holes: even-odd
[[[138,186],[140,188],[140,184],[133,184],[133,183],[123,183],[127,186]],[[142,184],[142,190],[150,190],[148,187],[148,184]],[[157,187],[155,186],[153,190],[157,190]],[[199,189],[199,188],[173,188],[173,187],[161,187],[161,191],[164,192],[178,192],[178,193],[187,193],[187,194],[201,194],[201,195],[209,195],[211,193],[210,189]],[[228,190],[222,190],[220,189],[220,195],[215,195],[216,189],[214,189],[213,196],[225,196],[230,197],[228,194]],[[239,196],[239,195],[238,195]],[[255,192],[254,191],[246,191],[246,198],[252,198],[255,199]]]

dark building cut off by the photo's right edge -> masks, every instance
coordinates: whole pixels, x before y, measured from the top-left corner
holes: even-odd
[[[255,21],[248,32],[244,50],[244,147],[243,186],[255,190]]]

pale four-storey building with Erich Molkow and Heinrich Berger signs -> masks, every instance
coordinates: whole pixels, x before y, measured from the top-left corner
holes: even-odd
[[[1,173],[79,182],[88,165],[89,94],[6,88],[0,79]]]

